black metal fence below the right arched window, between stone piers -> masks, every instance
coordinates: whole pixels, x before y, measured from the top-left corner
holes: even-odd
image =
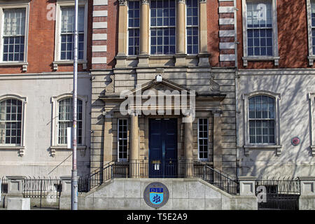
[[[262,198],[258,202],[259,210],[299,209],[300,179],[290,177],[258,179],[255,188],[258,186],[264,186],[266,190],[265,201]],[[256,195],[261,192],[256,192]]]

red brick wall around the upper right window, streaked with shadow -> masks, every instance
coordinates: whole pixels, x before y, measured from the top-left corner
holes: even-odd
[[[237,0],[237,34],[239,41],[239,68],[244,69],[242,10],[241,0]],[[307,36],[307,7],[306,1],[277,0],[277,25],[279,44],[279,66],[273,61],[248,61],[246,69],[276,69],[276,68],[307,68],[308,65],[308,36]]]

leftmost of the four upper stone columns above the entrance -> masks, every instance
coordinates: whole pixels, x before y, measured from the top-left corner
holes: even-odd
[[[116,56],[116,66],[125,67],[127,58],[127,0],[118,1],[118,54]]]

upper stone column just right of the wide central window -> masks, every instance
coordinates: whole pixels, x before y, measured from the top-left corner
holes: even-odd
[[[186,3],[185,0],[177,0],[176,15],[176,55],[175,66],[186,65]]]

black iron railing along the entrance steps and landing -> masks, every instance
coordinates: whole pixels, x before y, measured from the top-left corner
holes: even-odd
[[[80,177],[79,192],[88,192],[113,178],[185,178],[199,177],[232,195],[238,192],[237,181],[228,174],[200,160],[131,160],[112,161],[90,175]]]

